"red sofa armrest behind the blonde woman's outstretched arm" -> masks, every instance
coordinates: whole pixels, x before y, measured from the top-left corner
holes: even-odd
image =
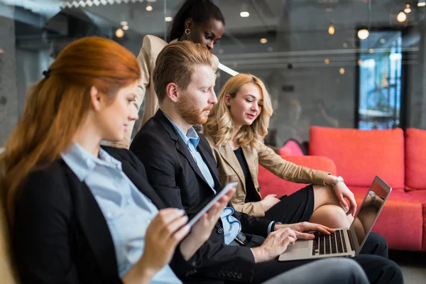
[[[302,165],[307,168],[312,168],[315,170],[324,170],[326,172],[332,173],[332,175],[337,175],[336,165],[333,160],[327,157],[322,156],[284,156],[283,159],[288,160],[289,162],[295,163],[296,165]],[[305,184],[288,182],[287,180],[282,180],[278,178],[273,173],[263,168],[259,165],[258,173],[258,182],[261,187],[261,195],[264,197],[266,195],[275,194],[278,196],[282,195],[291,195],[293,192],[300,190],[300,188],[305,187]]]

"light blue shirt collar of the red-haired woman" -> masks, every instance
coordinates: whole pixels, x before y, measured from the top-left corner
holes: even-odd
[[[99,148],[99,157],[95,157],[78,143],[72,143],[67,151],[61,153],[61,156],[81,182],[87,178],[96,165],[121,170],[121,162],[111,157],[102,148]]]

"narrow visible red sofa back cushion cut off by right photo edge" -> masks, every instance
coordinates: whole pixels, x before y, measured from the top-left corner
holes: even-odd
[[[405,131],[405,185],[407,190],[426,190],[426,130]]]

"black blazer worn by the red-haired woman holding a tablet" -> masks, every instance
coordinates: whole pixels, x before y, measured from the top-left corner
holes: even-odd
[[[104,147],[158,209],[142,163],[129,151]],[[62,160],[34,170],[20,187],[13,247],[23,283],[121,283],[114,243],[92,192]],[[170,263],[182,276],[194,268],[177,249]]]

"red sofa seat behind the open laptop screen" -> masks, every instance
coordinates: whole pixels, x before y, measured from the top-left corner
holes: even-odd
[[[358,207],[364,200],[369,187],[350,187],[354,192]],[[411,195],[402,188],[393,189],[389,195],[385,207],[381,211],[373,231],[381,234],[388,241],[390,249],[406,251],[425,251],[422,248],[423,209],[426,204],[426,192],[424,195]],[[417,193],[417,192],[413,192]]]

